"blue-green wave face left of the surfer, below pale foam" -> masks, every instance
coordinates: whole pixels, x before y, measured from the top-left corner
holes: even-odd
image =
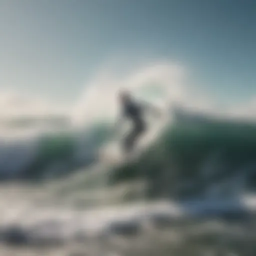
[[[33,136],[2,139],[0,177],[59,177],[92,163],[97,149],[107,140],[109,133],[109,125],[95,123],[82,130],[51,130]]]

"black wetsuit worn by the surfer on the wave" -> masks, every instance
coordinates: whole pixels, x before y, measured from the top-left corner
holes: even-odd
[[[132,122],[132,129],[124,137],[123,141],[123,149],[125,152],[129,152],[133,149],[134,142],[146,129],[146,124],[143,119],[143,110],[142,105],[131,100],[123,104],[122,116],[130,119]]]

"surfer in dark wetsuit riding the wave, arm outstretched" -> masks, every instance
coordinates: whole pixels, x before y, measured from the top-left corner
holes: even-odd
[[[122,141],[124,153],[130,153],[134,148],[135,142],[148,128],[144,119],[144,111],[150,109],[157,115],[159,112],[148,104],[136,102],[128,91],[120,91],[118,96],[121,105],[118,124],[122,119],[126,118],[131,121],[132,125],[131,130],[124,136]]]

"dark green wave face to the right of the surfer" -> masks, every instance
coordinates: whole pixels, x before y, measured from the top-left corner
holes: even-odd
[[[173,122],[111,183],[146,178],[148,196],[220,197],[255,192],[256,123],[174,110]]]

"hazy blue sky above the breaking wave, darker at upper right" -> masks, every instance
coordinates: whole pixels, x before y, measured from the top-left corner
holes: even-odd
[[[254,0],[0,0],[0,89],[71,102],[126,55],[178,61],[213,97],[247,100],[255,24]]]

